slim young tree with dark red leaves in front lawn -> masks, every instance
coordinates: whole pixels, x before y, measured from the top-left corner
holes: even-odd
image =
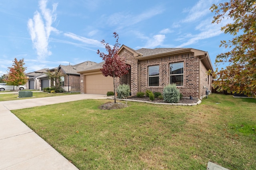
[[[106,48],[106,51],[108,54],[105,54],[103,52],[100,52],[100,50],[97,51],[97,54],[100,55],[100,57],[105,61],[102,68],[100,69],[102,74],[104,76],[111,76],[113,77],[113,83],[114,83],[114,102],[116,103],[116,88],[115,88],[115,77],[120,77],[124,74],[127,74],[129,72],[130,66],[125,63],[125,59],[121,58],[118,55],[119,50],[119,43],[118,43],[118,33],[114,32],[113,37],[116,38],[115,45],[111,48],[111,46],[106,43],[105,40],[100,41]]]

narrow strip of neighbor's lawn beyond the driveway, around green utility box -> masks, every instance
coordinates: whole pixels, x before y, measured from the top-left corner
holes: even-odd
[[[26,90],[25,90],[26,91]],[[72,95],[72,94],[80,94],[80,93],[46,93],[46,92],[33,92],[32,98],[45,98],[52,96],[63,96],[63,95]],[[11,93],[11,94],[0,94],[0,102],[9,101],[9,100],[22,100],[22,99],[31,99],[29,98],[18,98],[19,93]]]

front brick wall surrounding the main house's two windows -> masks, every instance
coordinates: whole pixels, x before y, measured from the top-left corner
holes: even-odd
[[[140,90],[162,92],[164,86],[170,84],[170,63],[183,62],[183,86],[177,86],[183,96],[198,97],[199,60],[193,53],[184,53],[156,59],[140,61]],[[148,86],[148,66],[159,65],[159,86]],[[144,75],[144,76],[142,76]]]

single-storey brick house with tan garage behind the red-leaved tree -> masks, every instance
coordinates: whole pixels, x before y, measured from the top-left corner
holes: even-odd
[[[212,87],[212,76],[208,75],[207,71],[214,70],[206,51],[192,48],[134,50],[122,45],[118,55],[124,57],[126,64],[131,68],[128,74],[116,78],[115,84],[116,86],[129,84],[132,95],[146,90],[162,92],[166,85],[175,83],[184,97],[202,99],[206,96],[206,88],[210,90]],[[101,66],[99,63],[98,67],[90,67],[79,72],[81,93],[106,94],[107,91],[113,91],[113,87],[110,88],[110,79],[113,86],[113,78],[104,77],[100,72]],[[94,80],[93,86],[92,80]],[[101,83],[102,81],[104,83]],[[109,88],[106,88],[108,86]],[[95,87],[98,91],[93,90]]]

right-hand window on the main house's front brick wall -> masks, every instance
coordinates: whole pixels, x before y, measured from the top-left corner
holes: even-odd
[[[170,84],[183,86],[183,62],[170,64]]]

